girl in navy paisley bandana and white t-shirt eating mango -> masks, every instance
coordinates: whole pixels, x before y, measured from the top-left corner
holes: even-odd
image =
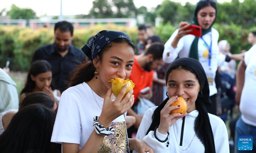
[[[51,142],[62,143],[63,153],[153,153],[139,139],[128,142],[125,115],[134,103],[133,90],[124,97],[126,84],[114,99],[108,82],[131,75],[135,46],[130,37],[103,30],[82,50],[90,60],[78,65],[61,95]]]

